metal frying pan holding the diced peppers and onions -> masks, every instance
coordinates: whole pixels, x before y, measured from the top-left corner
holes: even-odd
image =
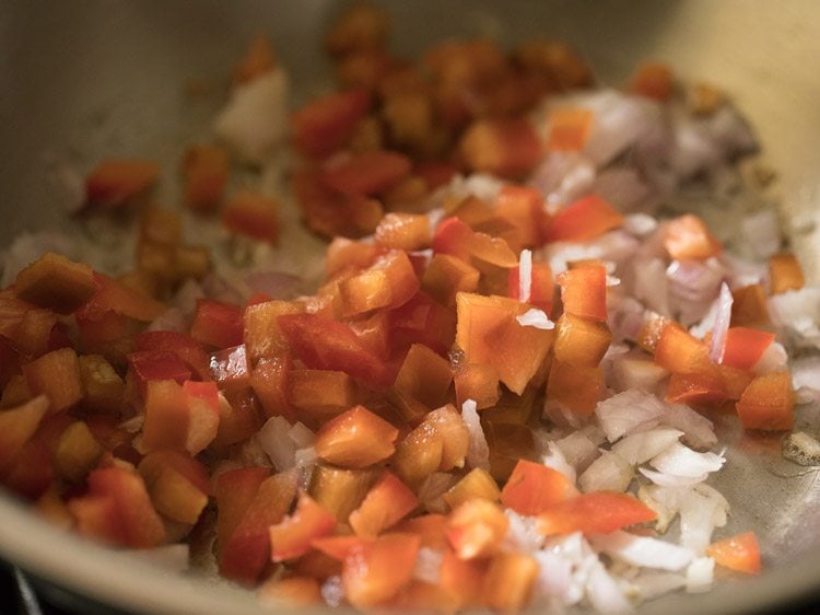
[[[777,170],[784,228],[808,278],[820,281],[820,3],[812,0],[385,2],[396,51],[447,36],[502,43],[546,35],[569,42],[604,82],[621,83],[643,59],[731,93]],[[66,224],[55,161],[160,159],[166,169],[204,134],[233,62],[257,32],[274,42],[295,102],[327,84],[320,36],[340,10],[330,0],[0,3],[0,245],[24,230]],[[191,84],[210,94],[191,97]],[[166,177],[160,198],[173,202]],[[798,426],[818,409],[798,410]],[[727,535],[752,529],[766,571],[718,582],[707,594],[666,596],[644,613],[747,613],[783,607],[820,588],[817,471],[727,428],[728,463],[715,486],[733,503]],[[776,444],[776,442],[774,442]],[[265,612],[249,592],[197,575],[163,572],[66,535],[0,496],[0,556],[99,604],[144,613]],[[326,613],[326,611],[324,611]]]

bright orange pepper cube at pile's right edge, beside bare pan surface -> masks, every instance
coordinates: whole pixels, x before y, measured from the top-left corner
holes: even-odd
[[[792,429],[795,394],[788,372],[760,375],[749,383],[736,408],[746,429]]]

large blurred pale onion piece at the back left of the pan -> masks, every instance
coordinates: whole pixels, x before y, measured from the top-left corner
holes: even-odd
[[[260,163],[288,131],[288,76],[274,69],[236,86],[214,132],[248,162]]]

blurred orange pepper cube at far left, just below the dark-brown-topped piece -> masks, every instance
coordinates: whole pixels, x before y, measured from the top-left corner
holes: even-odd
[[[45,394],[51,413],[75,406],[83,398],[80,361],[73,348],[60,348],[23,365],[23,374],[34,395]]]

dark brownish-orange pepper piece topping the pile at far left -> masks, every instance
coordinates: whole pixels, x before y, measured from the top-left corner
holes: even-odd
[[[96,290],[94,270],[89,265],[54,252],[20,271],[14,288],[20,299],[60,314],[73,312]]]

